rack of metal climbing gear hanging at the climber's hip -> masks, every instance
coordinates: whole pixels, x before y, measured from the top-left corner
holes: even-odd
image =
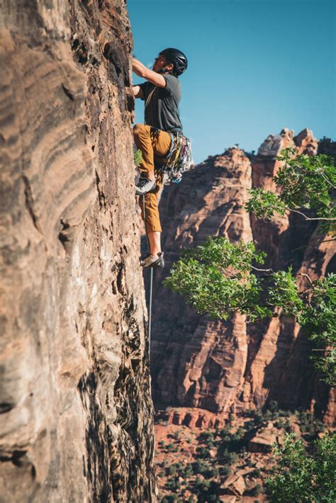
[[[184,171],[191,169],[193,157],[191,154],[191,141],[180,131],[169,132],[172,138],[168,154],[163,158],[164,164],[158,164],[157,169],[167,174],[168,182],[179,183]]]

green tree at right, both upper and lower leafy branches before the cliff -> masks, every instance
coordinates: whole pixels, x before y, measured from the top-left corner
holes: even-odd
[[[335,232],[336,169],[332,158],[284,149],[276,159],[282,163],[274,177],[279,194],[252,189],[247,210],[257,217],[291,210],[307,219],[321,220],[323,232]],[[303,213],[306,210],[314,210],[317,216],[309,217]],[[311,281],[305,274],[307,286],[298,291],[291,268],[271,271],[259,267],[265,257],[252,242],[233,244],[225,237],[209,237],[204,244],[182,253],[164,284],[184,295],[200,314],[220,320],[233,312],[246,315],[248,322],[280,313],[296,317],[317,346],[315,365],[328,383],[335,384],[336,275]]]

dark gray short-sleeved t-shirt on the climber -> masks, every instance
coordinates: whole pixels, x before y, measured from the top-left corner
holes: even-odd
[[[162,75],[166,87],[158,87],[151,82],[140,84],[145,100],[145,124],[162,131],[182,130],[179,118],[181,84],[177,77]]]

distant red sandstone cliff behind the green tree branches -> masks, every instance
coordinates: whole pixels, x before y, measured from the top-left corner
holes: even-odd
[[[271,179],[279,169],[274,157],[284,147],[316,154],[318,142],[310,130],[296,137],[293,131],[283,130],[265,140],[252,162],[244,152],[231,148],[209,157],[185,174],[179,186],[164,191],[160,213],[167,270],[181,248],[194,247],[210,234],[233,242],[254,239],[268,254],[267,266],[274,269],[291,264],[295,272],[308,271],[313,277],[330,270],[335,246],[320,243],[323,238],[316,233],[315,222],[299,215],[264,222],[243,209],[248,188],[274,188]],[[227,322],[208,320],[164,288],[163,276],[157,273],[153,309],[157,407],[181,407],[176,422],[197,424],[196,412],[190,414],[185,407],[207,409],[220,421],[229,411],[277,400],[280,407],[315,407],[327,422],[332,421],[332,396],[313,369],[312,344],[291,319],[281,316],[248,325],[240,315]],[[203,410],[198,415],[202,424]]]

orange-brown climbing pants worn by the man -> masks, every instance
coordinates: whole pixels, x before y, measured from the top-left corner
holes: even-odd
[[[162,232],[159,221],[159,190],[163,183],[163,173],[155,169],[155,161],[164,164],[164,157],[168,154],[172,138],[169,132],[157,130],[149,125],[135,124],[133,128],[135,145],[142,152],[142,163],[139,166],[142,173],[154,169],[157,186],[154,191],[145,194],[146,232]],[[161,159],[160,159],[161,157]],[[139,196],[141,216],[143,217],[143,196]]]

